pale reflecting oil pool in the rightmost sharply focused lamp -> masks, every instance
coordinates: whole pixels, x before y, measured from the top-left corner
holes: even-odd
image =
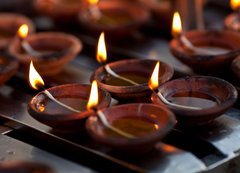
[[[199,108],[216,106],[219,101],[209,94],[202,92],[178,92],[167,97],[172,103]]]

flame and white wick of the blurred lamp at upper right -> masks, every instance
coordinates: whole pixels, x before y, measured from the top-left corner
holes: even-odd
[[[182,23],[178,12],[174,13],[172,23],[172,35],[179,37],[180,41],[191,51],[203,55],[216,55],[216,52],[194,46],[188,38],[182,34]]]

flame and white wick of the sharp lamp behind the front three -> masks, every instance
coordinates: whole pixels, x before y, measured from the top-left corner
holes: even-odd
[[[97,49],[97,61],[103,65],[105,71],[118,78],[118,79],[121,79],[121,80],[124,80],[130,84],[133,84],[133,85],[138,85],[138,83],[128,79],[128,78],[125,78],[117,73],[115,73],[111,67],[109,65],[106,64],[106,61],[107,61],[107,51],[106,51],[106,44],[105,44],[105,36],[104,36],[104,33],[102,32],[100,37],[99,37],[99,40],[98,40],[98,49]]]

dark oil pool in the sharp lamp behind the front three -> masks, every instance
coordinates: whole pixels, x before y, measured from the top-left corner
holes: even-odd
[[[144,84],[148,82],[149,76],[148,75],[144,75],[144,74],[139,74],[139,73],[117,73],[120,76],[123,76],[127,79],[130,79],[138,84]],[[104,83],[108,84],[108,85],[112,85],[112,86],[131,86],[134,84],[131,84],[127,81],[124,81],[122,79],[116,78],[112,75],[107,75],[104,79]]]

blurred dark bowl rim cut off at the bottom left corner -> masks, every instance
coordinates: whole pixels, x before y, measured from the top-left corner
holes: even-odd
[[[0,164],[2,173],[55,173],[48,165],[36,162],[3,162]]]

